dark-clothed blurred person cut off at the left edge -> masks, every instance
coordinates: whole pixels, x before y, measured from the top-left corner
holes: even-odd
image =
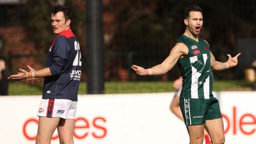
[[[6,66],[6,62],[3,59],[0,59],[0,96],[7,96],[8,95],[8,86],[9,86],[9,79],[10,70],[8,66]]]

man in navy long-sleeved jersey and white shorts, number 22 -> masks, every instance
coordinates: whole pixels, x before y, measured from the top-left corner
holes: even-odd
[[[58,129],[61,144],[73,144],[74,119],[77,92],[81,76],[80,46],[70,29],[70,10],[56,5],[51,11],[52,28],[56,38],[48,52],[46,68],[30,72],[19,69],[12,80],[45,78],[43,98],[37,116],[39,126],[37,144],[50,144],[55,129]]]

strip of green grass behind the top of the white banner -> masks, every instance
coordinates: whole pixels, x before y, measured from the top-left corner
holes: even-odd
[[[142,92],[173,92],[173,81],[152,82],[105,82],[106,94],[142,93]],[[253,83],[248,81],[214,81],[213,91],[244,91],[252,90]],[[9,95],[42,95],[43,84],[25,84],[10,82]],[[78,94],[86,94],[86,83],[81,82]]]

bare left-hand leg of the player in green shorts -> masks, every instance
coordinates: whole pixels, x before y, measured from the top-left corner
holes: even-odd
[[[189,134],[189,144],[202,144],[204,141],[204,125],[192,125],[187,126],[187,132]]]

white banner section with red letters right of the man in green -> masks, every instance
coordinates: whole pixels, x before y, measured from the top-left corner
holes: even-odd
[[[220,92],[226,144],[256,144],[256,92]]]

